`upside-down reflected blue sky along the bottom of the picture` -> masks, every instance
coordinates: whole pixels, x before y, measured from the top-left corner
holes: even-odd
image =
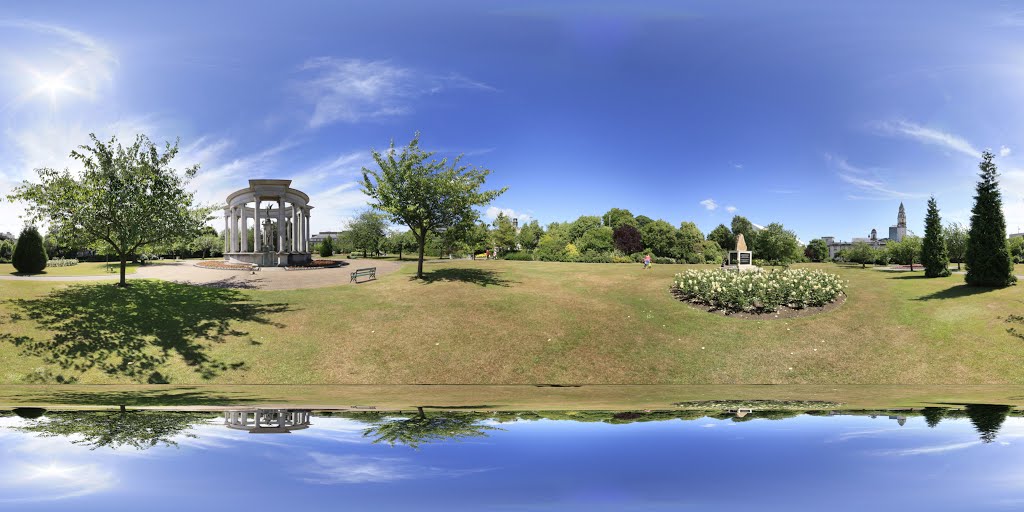
[[[145,451],[8,428],[24,424],[0,418],[0,510],[1024,508],[1024,419],[1013,417],[989,443],[967,419],[801,416],[519,421],[418,451],[373,444],[341,418],[291,434],[200,425],[177,447]]]

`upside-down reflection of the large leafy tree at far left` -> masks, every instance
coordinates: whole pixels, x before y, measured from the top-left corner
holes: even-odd
[[[196,437],[189,431],[205,423],[209,414],[168,411],[68,411],[50,412],[15,430],[40,437],[74,437],[75,444],[118,449],[131,446],[146,450],[158,444],[176,446],[174,437]]]

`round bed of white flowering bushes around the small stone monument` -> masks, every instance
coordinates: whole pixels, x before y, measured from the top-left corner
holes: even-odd
[[[683,299],[731,311],[776,311],[823,306],[843,294],[843,280],[817,269],[686,270],[673,288]]]

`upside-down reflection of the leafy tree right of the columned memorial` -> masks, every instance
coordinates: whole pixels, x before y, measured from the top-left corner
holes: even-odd
[[[477,418],[467,413],[436,413],[427,416],[423,408],[412,418],[387,419],[362,432],[364,437],[373,437],[374,443],[386,442],[394,446],[404,444],[419,449],[420,444],[465,437],[486,437],[489,430],[502,430],[489,425],[480,425]]]

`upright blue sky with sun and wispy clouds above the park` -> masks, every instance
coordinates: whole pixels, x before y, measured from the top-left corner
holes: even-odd
[[[5,4],[0,191],[74,167],[90,131],[144,132],[181,137],[203,202],[291,178],[335,229],[369,150],[420,130],[523,219],[738,213],[846,240],[900,201],[921,233],[930,194],[966,222],[988,147],[1017,231],[1022,50],[1001,1]]]

